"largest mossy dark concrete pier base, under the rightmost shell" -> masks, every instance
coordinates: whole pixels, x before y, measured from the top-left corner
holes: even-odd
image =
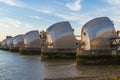
[[[76,64],[120,64],[117,50],[76,51]]]

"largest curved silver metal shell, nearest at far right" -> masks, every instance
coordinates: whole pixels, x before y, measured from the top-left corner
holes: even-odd
[[[114,24],[108,17],[99,17],[88,21],[82,28],[82,48],[86,50],[110,49],[110,37],[115,37]]]

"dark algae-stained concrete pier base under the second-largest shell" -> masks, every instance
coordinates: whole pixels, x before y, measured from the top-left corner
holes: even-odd
[[[41,59],[75,58],[75,50],[72,49],[41,49]]]

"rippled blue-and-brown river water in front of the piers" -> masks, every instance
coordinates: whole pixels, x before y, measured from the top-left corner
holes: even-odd
[[[0,80],[54,80],[59,78],[89,80],[91,77],[101,79],[117,75],[120,75],[120,65],[77,66],[74,59],[42,61],[40,56],[23,56],[0,50]]]

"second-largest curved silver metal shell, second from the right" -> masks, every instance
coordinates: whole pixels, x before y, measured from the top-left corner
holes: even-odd
[[[69,22],[59,22],[50,26],[46,31],[48,48],[75,49],[76,39]]]

